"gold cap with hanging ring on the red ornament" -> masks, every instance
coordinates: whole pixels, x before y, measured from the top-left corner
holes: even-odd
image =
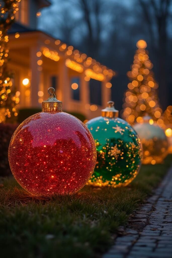
[[[52,91],[52,93],[50,92],[50,90]],[[50,97],[42,102],[42,112],[62,112],[62,102],[56,99],[54,88],[48,88],[48,94],[50,95]]]

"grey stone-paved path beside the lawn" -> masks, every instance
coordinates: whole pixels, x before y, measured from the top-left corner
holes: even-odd
[[[172,258],[172,168],[103,258]]]

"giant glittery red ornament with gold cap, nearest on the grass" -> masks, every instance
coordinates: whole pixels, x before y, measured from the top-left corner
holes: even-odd
[[[86,184],[96,163],[91,133],[79,119],[62,112],[54,92],[48,89],[50,97],[42,112],[19,125],[9,146],[15,179],[36,196],[75,193]]]

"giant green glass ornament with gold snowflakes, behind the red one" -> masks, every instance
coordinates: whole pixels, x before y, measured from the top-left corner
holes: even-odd
[[[141,164],[141,144],[133,128],[118,118],[118,110],[109,101],[102,116],[87,122],[97,147],[97,163],[88,184],[126,186],[137,175]]]

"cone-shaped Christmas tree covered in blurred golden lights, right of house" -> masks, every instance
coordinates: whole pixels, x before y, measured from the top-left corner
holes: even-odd
[[[153,65],[146,50],[147,44],[141,39],[137,42],[137,47],[131,71],[127,72],[132,82],[125,92],[122,111],[122,117],[130,124],[141,122],[146,113],[156,121],[162,113],[157,95],[158,84],[151,71]]]

